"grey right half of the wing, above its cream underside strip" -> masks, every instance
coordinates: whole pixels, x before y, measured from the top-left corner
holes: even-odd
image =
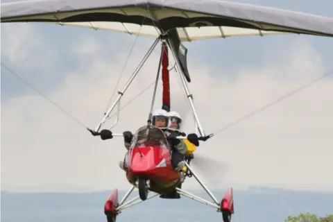
[[[159,2],[155,0],[154,2]],[[238,28],[257,28],[265,31],[282,31],[333,36],[333,18],[310,15],[291,10],[253,6],[231,1],[164,1],[164,7],[185,12],[195,12],[205,17],[189,13],[187,26],[206,24],[211,26],[230,26]],[[199,25],[198,24],[198,25]]]

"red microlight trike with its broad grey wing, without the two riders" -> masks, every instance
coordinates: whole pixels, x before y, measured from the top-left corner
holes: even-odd
[[[196,150],[196,146],[199,145],[198,141],[210,139],[214,134],[206,135],[194,108],[194,96],[187,86],[187,83],[191,82],[187,69],[187,48],[182,42],[220,37],[291,33],[333,37],[333,19],[330,17],[216,0],[16,1],[1,3],[1,23],[5,22],[44,22],[61,26],[118,31],[155,38],[155,42],[130,76],[126,85],[119,91],[116,101],[110,106],[101,122],[94,130],[89,130],[92,135],[99,135],[102,139],[122,136],[121,134],[112,133],[110,130],[101,130],[101,127],[110,117],[112,110],[117,105],[119,107],[121,97],[139,73],[153,49],[159,42],[162,44],[160,65],[157,71],[148,121],[146,126],[142,126],[135,133],[126,160],[128,166],[126,178],[131,187],[120,201],[117,189],[114,189],[110,194],[104,207],[108,222],[115,222],[117,215],[122,210],[155,196],[161,198],[180,198],[180,196],[191,198],[215,208],[217,212],[222,214],[224,222],[230,222],[231,215],[234,214],[232,187],[225,192],[222,200],[218,200],[190,167],[190,162],[194,158],[193,152]],[[176,74],[181,79],[182,87],[187,94],[189,106],[196,123],[195,130],[198,132],[189,134],[187,137],[178,137],[185,140],[189,150],[185,169],[182,172],[175,171],[171,167],[167,137],[162,130],[151,126],[151,111],[160,79],[161,66],[163,108],[165,110],[171,108],[168,69],[169,51],[171,51],[171,56],[176,62]],[[117,117],[112,127],[117,124],[118,120]],[[228,153],[225,153],[228,157]],[[181,189],[181,185],[185,181],[182,178],[184,175],[185,178],[193,176],[212,198],[213,202]],[[135,188],[138,189],[139,196],[126,202]],[[148,196],[150,192],[153,193],[153,196]]]

